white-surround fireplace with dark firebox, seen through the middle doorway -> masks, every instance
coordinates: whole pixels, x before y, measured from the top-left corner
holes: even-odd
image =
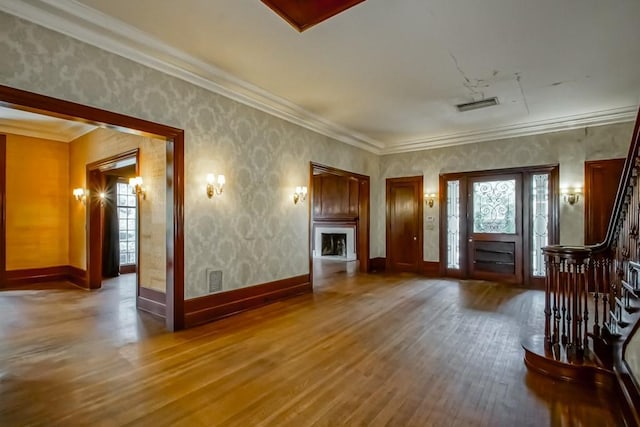
[[[313,256],[346,261],[357,259],[355,225],[316,225],[313,233]]]

